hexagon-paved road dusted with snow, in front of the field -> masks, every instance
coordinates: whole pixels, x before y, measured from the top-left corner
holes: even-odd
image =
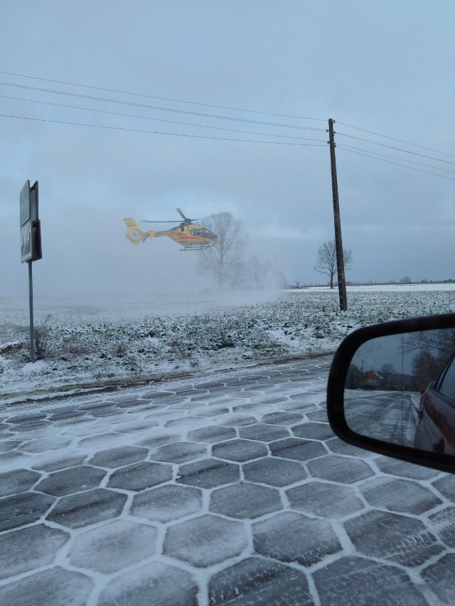
[[[329,364],[2,406],[0,603],[453,603],[455,476],[336,438]]]

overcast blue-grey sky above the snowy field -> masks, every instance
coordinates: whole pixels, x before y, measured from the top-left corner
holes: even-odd
[[[313,266],[333,238],[328,118],[348,280],[455,278],[453,0],[0,10],[0,296],[28,289],[26,179],[40,190],[38,295],[195,288],[197,252],[124,237],[124,217],[178,219],[176,207],[230,211],[247,256],[289,283],[324,281]]]

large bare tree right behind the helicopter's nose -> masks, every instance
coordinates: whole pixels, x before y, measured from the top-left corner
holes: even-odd
[[[240,266],[245,247],[242,222],[230,212],[218,212],[204,220],[205,227],[217,234],[215,245],[203,251],[200,268],[215,276],[218,286],[235,282],[235,271]]]

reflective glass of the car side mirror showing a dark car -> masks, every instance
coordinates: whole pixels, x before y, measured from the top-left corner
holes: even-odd
[[[365,342],[350,363],[344,410],[361,435],[455,455],[455,329]]]

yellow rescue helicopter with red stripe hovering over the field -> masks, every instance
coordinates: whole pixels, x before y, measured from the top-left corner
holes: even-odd
[[[177,209],[178,213],[183,218],[183,221],[172,227],[166,229],[163,232],[154,232],[153,229],[149,229],[144,232],[141,227],[133,219],[124,219],[127,225],[127,233],[125,236],[129,239],[132,244],[139,244],[145,242],[147,238],[159,238],[167,236],[171,238],[177,244],[183,246],[182,250],[204,250],[215,245],[215,240],[218,238],[216,234],[210,232],[210,229],[203,227],[203,225],[197,225],[194,221],[196,219],[188,219],[180,208]],[[143,223],[173,223],[174,221],[143,221]]]

